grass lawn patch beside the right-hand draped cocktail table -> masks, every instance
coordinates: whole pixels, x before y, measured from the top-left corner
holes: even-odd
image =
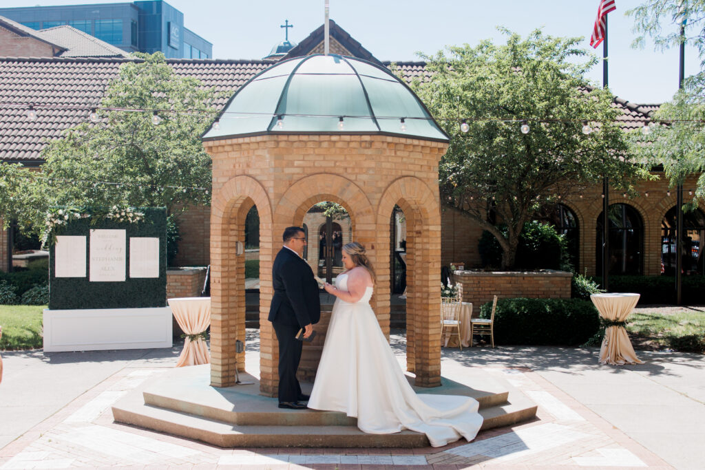
[[[636,309],[627,319],[635,347],[705,352],[705,308]]]

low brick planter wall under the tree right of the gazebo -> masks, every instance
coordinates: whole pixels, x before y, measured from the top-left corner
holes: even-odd
[[[473,316],[477,316],[479,307],[491,302],[495,295],[500,299],[570,299],[571,278],[572,273],[550,270],[453,272],[453,283],[462,284],[462,301],[473,304]]]

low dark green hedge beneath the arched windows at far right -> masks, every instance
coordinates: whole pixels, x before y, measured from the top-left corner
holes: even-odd
[[[602,278],[593,280],[602,285]],[[705,304],[705,276],[682,277],[682,300],[687,305]],[[675,303],[673,276],[610,276],[610,292],[635,292],[639,304]]]

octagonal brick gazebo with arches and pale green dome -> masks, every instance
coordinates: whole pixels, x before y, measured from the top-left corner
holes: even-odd
[[[213,161],[211,385],[235,383],[245,357],[245,216],[259,213],[260,393],[278,385],[277,342],[266,320],[271,264],[281,234],[313,204],[350,215],[377,273],[372,299],[389,335],[390,217],[407,221],[407,370],[441,385],[441,215],[438,166],[448,135],[416,95],[384,67],[312,55],[264,70],[236,92],[204,134]]]

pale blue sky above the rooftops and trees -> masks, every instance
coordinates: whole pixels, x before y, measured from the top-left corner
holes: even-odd
[[[608,16],[609,87],[637,104],[668,101],[678,90],[678,49],[654,51],[652,42],[632,49],[634,20],[625,12],[644,0],[616,0]],[[3,6],[51,6],[119,3],[96,0],[1,0]],[[284,39],[280,25],[293,24],[289,39],[300,42],[323,24],[324,0],[168,0],[184,14],[185,27],[213,44],[214,58],[257,59]],[[435,54],[449,45],[482,39],[504,42],[496,26],[526,36],[541,28],[546,35],[589,38],[599,0],[330,0],[331,19],[380,61],[419,61],[418,52]],[[671,26],[673,27],[673,26]],[[687,47],[685,73],[699,71],[697,51]],[[602,66],[588,78],[602,85]]]

